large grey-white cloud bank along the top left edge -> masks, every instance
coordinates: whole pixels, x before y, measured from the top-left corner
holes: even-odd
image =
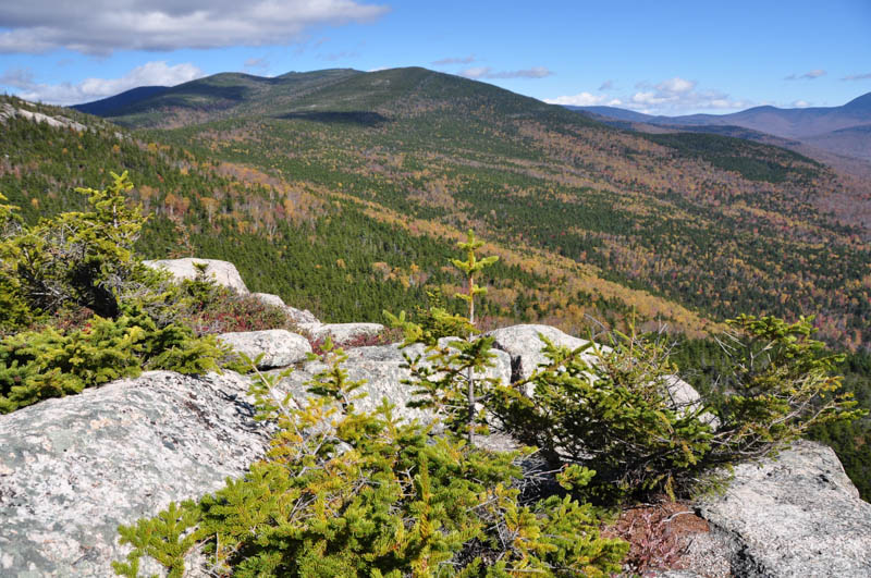
[[[388,10],[355,0],[10,1],[0,3],[0,52],[287,45],[306,28],[370,22]]]

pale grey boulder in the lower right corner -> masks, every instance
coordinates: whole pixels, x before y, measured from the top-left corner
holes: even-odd
[[[696,511],[711,533],[690,546],[691,563],[717,553],[733,576],[871,576],[871,504],[825,445],[799,441],[776,459],[736,466],[725,494]]]

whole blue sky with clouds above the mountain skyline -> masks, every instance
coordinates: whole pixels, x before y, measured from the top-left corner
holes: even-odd
[[[0,90],[51,103],[218,72],[426,66],[650,113],[871,91],[871,1],[58,0],[0,5]]]

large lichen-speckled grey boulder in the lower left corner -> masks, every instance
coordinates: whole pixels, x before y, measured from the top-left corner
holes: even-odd
[[[248,382],[150,371],[0,416],[0,576],[114,576],[118,526],[241,477],[269,445]]]

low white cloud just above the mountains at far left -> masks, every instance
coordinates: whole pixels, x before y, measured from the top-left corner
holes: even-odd
[[[86,78],[78,84],[40,84],[28,71],[7,71],[0,85],[17,88],[15,95],[50,104],[78,104],[114,96],[138,86],[175,86],[205,76],[191,63],[170,66],[164,61],[136,66],[121,78]]]

